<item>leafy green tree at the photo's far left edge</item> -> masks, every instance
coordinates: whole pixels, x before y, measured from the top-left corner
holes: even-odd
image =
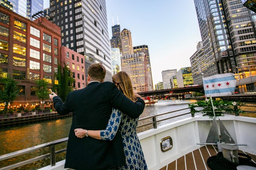
[[[16,99],[19,90],[17,89],[18,82],[10,78],[0,78],[0,83],[4,84],[4,90],[0,91],[0,100],[5,103],[4,114],[7,114],[8,103]]]

